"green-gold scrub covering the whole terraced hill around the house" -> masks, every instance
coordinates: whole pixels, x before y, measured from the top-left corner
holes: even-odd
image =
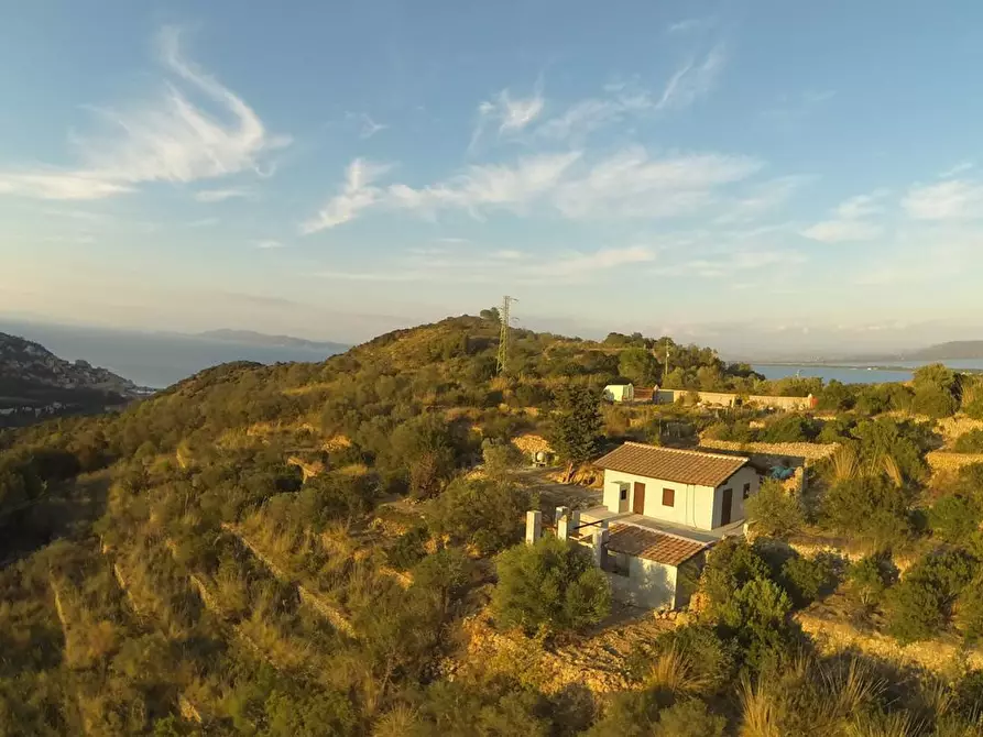
[[[605,383],[662,377],[665,339],[516,331],[496,377],[496,337],[494,315],[457,318],[0,436],[0,735],[981,734],[983,465],[927,462],[976,452],[938,424],[981,415],[973,381],[772,384],[674,345],[669,386],[812,393],[821,411],[599,409]],[[612,608],[586,551],[517,544],[537,502],[510,440],[576,465],[700,432],[838,447],[805,494],[764,485],[753,539],[714,548],[619,688],[468,657],[474,622],[534,658],[590,648]],[[807,613],[958,657],[835,651]]]

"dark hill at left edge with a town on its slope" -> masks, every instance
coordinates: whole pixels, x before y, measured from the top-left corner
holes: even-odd
[[[146,394],[86,361],[70,363],[40,343],[0,332],[0,427],[106,411]]]

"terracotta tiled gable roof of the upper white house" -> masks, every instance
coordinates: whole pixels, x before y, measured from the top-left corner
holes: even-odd
[[[657,448],[640,442],[626,442],[621,448],[615,448],[600,458],[594,465],[647,479],[699,486],[719,486],[745,463],[747,463],[747,459],[740,455],[702,453],[696,450]]]

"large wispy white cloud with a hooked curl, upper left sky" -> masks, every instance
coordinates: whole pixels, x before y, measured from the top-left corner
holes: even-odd
[[[81,154],[78,167],[0,170],[0,194],[100,199],[144,183],[189,183],[259,170],[264,154],[290,143],[288,138],[271,135],[240,97],[187,61],[175,29],[164,29],[160,47],[175,81],[165,85],[157,100],[120,109],[96,108],[107,129],[101,135],[74,141]],[[214,110],[198,107],[187,90],[209,100]]]

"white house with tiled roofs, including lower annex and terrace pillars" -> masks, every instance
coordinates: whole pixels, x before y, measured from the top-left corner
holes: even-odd
[[[744,501],[761,483],[749,459],[627,442],[594,465],[604,470],[603,506],[558,508],[557,536],[592,549],[619,601],[685,606],[707,551],[743,531]],[[529,541],[538,525],[531,517]]]

